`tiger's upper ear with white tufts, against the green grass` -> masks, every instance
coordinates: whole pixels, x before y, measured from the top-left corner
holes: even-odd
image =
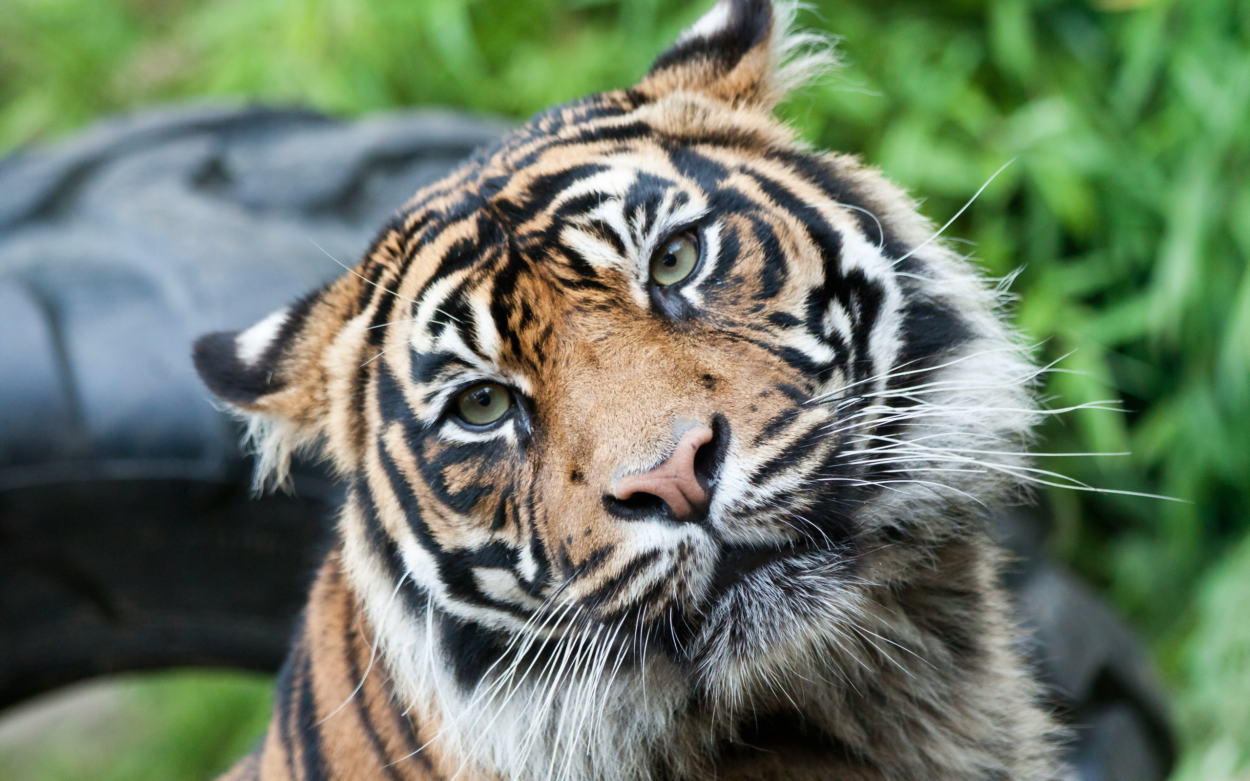
[[[771,111],[785,92],[834,65],[828,36],[792,32],[796,2],[720,0],[651,64],[635,91],[698,92]]]

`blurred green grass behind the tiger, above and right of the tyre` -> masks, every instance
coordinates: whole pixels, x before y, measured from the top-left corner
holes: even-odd
[[[0,149],[191,95],[524,117],[631,84],[706,5],[0,0]],[[1048,465],[1186,500],[1046,491],[1054,554],[1151,641],[1181,776],[1250,772],[1250,0],[820,0],[801,20],[846,62],[782,107],[814,144],[939,222],[1016,160],[949,235],[1021,269],[1054,406],[1122,404],[1052,419],[1041,447],[1131,452]]]

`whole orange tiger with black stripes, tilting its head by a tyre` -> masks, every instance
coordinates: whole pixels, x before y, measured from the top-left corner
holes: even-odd
[[[196,341],[261,480],[345,486],[225,780],[1070,777],[986,531],[1039,370],[1001,284],[776,117],[838,59],[794,17],[720,0]]]

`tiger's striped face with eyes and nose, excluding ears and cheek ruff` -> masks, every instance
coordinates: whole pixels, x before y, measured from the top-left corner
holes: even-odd
[[[405,216],[404,272],[358,315],[361,494],[398,504],[361,514],[466,619],[571,604],[680,642],[766,564],[845,552],[835,399],[895,360],[902,295],[798,180],[815,157],[674,144],[626,107],[565,110]]]

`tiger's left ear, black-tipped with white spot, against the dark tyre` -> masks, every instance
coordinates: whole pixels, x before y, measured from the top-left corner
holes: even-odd
[[[284,482],[291,454],[325,432],[334,342],[344,325],[335,292],[316,291],[244,331],[195,341],[200,379],[248,421],[258,489],[270,479]]]

